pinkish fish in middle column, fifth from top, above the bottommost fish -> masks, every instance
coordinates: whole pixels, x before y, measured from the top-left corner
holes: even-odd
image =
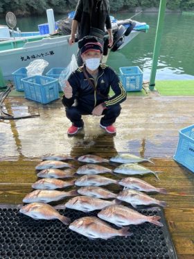
[[[73,210],[81,210],[83,212],[90,212],[93,210],[101,210],[107,206],[121,203],[121,201],[105,201],[98,198],[87,197],[87,196],[78,196],[73,197],[65,203],[65,208],[71,208]]]

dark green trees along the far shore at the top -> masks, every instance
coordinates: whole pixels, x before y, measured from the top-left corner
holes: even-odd
[[[16,15],[42,15],[48,8],[55,13],[75,10],[78,0],[0,0],[0,15],[15,12]],[[109,0],[110,11],[129,10],[134,7],[158,7],[160,0]],[[170,10],[194,10],[194,0],[167,0]]]

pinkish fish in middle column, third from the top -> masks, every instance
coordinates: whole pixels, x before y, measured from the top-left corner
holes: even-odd
[[[85,176],[81,176],[75,182],[77,186],[100,186],[100,185],[109,185],[110,183],[117,183],[118,181],[107,178],[105,176],[98,176],[98,174],[87,174]]]

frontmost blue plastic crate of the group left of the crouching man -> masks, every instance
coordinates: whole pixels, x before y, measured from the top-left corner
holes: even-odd
[[[48,76],[30,76],[21,79],[25,97],[39,103],[50,103],[59,98],[58,80]]]

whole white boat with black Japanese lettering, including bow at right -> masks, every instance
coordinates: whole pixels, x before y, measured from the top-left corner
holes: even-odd
[[[145,23],[125,19],[112,20],[114,45],[111,51],[122,49],[141,31],[145,32],[149,26]],[[0,31],[1,32],[1,31]],[[44,59],[48,66],[44,73],[53,67],[67,67],[73,53],[78,51],[78,44],[69,45],[70,35],[26,35],[10,37],[0,41],[0,68],[5,80],[12,79],[12,72],[21,67],[27,67],[35,59]],[[105,35],[106,39],[107,35]],[[109,53],[106,45],[104,55]]]

